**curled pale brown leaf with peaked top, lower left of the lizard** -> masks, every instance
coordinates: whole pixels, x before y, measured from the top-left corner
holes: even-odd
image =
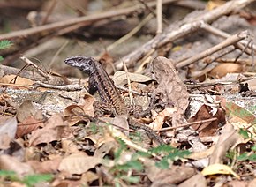
[[[62,116],[55,114],[49,118],[42,129],[37,129],[32,132],[29,139],[30,146],[36,146],[41,143],[48,144],[51,141],[60,140],[72,136],[67,123],[64,123]]]

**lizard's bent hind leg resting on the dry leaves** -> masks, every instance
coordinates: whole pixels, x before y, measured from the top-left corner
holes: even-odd
[[[103,115],[115,115],[115,108],[108,103],[94,101],[94,116],[100,117]]]

